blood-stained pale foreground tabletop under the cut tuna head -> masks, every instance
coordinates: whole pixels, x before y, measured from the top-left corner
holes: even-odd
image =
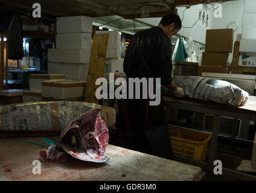
[[[51,141],[57,137],[49,137]],[[68,156],[64,163],[43,163],[41,174],[34,175],[33,160],[39,159],[42,138],[0,139],[0,180],[196,180],[202,169],[161,157],[108,145],[105,163],[84,162]],[[123,175],[125,174],[125,175]]]

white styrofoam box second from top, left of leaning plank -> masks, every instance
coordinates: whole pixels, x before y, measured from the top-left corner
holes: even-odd
[[[57,48],[92,48],[91,33],[67,33],[57,34]]]

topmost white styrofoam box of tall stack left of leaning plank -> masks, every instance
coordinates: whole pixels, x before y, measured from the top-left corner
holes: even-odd
[[[92,17],[57,17],[57,33],[92,33]]]

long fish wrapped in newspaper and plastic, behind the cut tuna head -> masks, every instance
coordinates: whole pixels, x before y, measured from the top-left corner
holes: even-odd
[[[0,108],[0,131],[61,131],[72,120],[100,108],[107,127],[115,125],[115,110],[98,104],[74,101],[10,104]]]

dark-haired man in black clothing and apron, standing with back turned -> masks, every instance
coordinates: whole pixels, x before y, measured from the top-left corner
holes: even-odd
[[[158,27],[136,33],[124,59],[124,72],[127,78],[161,78],[161,84],[170,89],[174,96],[184,96],[182,88],[176,87],[171,80],[170,38],[180,29],[179,16],[168,14],[162,17]],[[125,147],[174,159],[162,96],[158,106],[149,106],[149,101],[141,98],[126,100],[126,106],[123,108],[127,117],[123,126],[132,135],[126,139]]]

